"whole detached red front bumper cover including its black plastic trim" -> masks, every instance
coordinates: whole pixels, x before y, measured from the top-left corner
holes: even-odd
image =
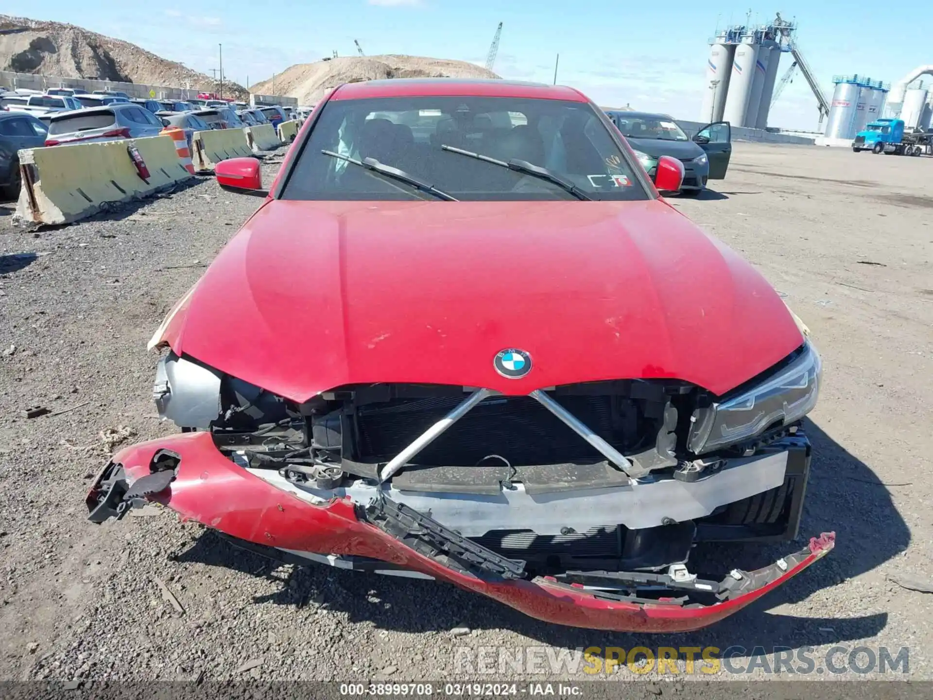
[[[102,483],[114,465],[122,466],[125,484],[108,498]],[[522,563],[472,549],[469,540],[391,501],[355,504],[343,498],[315,506],[285,493],[220,454],[208,433],[144,442],[119,452],[91,488],[91,520],[117,514],[117,502],[125,504],[127,493],[160,502],[183,519],[232,538],[292,552],[379,559],[487,595],[539,620],[619,632],[686,632],[716,623],[809,567],[834,543],[834,534],[824,534],[771,567],[733,570],[725,581],[714,583],[721,599],[700,605],[680,596],[686,587],[678,585],[672,597],[657,600],[584,589],[584,583],[598,586],[600,579],[618,581],[613,573],[568,572],[562,577],[568,582],[518,578]]]

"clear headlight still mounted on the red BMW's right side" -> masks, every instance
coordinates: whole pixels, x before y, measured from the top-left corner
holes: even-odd
[[[822,380],[823,361],[807,341],[798,357],[759,384],[698,409],[690,428],[690,452],[702,455],[800,420],[816,405]]]

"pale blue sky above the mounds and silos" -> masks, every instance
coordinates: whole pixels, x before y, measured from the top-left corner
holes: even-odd
[[[903,13],[915,0],[900,3]],[[799,42],[824,91],[831,77],[868,75],[895,81],[912,67],[933,63],[924,22],[868,28],[876,2],[823,0],[753,7],[747,0],[717,3],[667,0],[5,0],[4,11],[67,21],[132,41],[208,75],[223,44],[224,73],[251,83],[293,63],[354,55],[358,39],[369,55],[408,53],[484,63],[495,26],[504,22],[494,70],[503,77],[550,82],[561,54],[558,82],[600,105],[669,112],[699,119],[708,37],[718,26],[769,21],[775,10],[796,19]],[[779,76],[790,65],[784,55]],[[831,95],[828,94],[828,97]],[[772,109],[772,126],[816,128],[815,98],[798,75]]]

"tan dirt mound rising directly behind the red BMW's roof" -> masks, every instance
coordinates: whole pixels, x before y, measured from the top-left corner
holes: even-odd
[[[359,56],[315,63],[297,63],[251,87],[259,94],[289,95],[299,105],[313,105],[325,92],[341,83],[388,77],[498,77],[492,71],[466,61],[421,56]]]

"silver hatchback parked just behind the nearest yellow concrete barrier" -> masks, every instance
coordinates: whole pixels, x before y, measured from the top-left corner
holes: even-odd
[[[46,146],[158,136],[161,119],[129,102],[53,115]]]

